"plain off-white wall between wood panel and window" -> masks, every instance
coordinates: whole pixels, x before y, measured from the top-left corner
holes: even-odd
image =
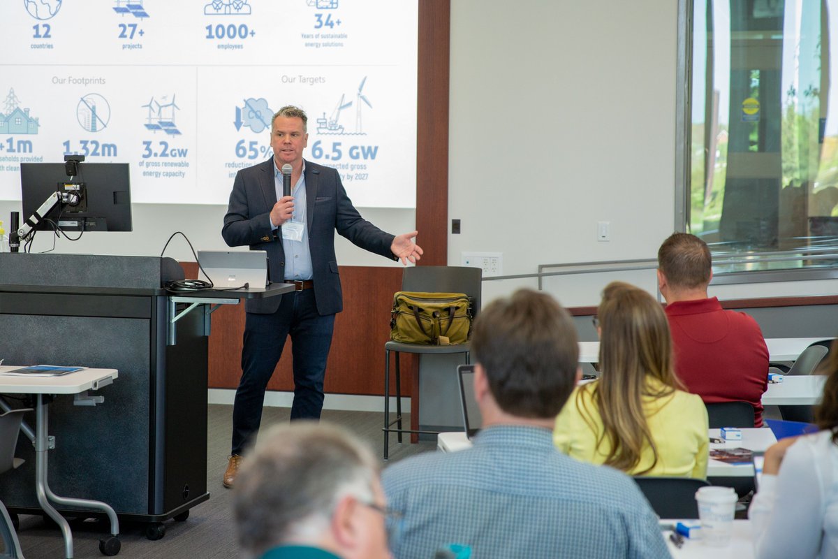
[[[451,6],[448,263],[654,258],[675,226],[677,4],[455,0]],[[597,221],[611,241],[597,242]],[[654,290],[649,281],[635,280]],[[613,274],[545,282],[594,305]],[[647,285],[649,284],[649,285]],[[535,279],[484,282],[484,302]],[[835,281],[720,287],[722,298],[835,292]],[[715,294],[715,293],[714,293]]]

